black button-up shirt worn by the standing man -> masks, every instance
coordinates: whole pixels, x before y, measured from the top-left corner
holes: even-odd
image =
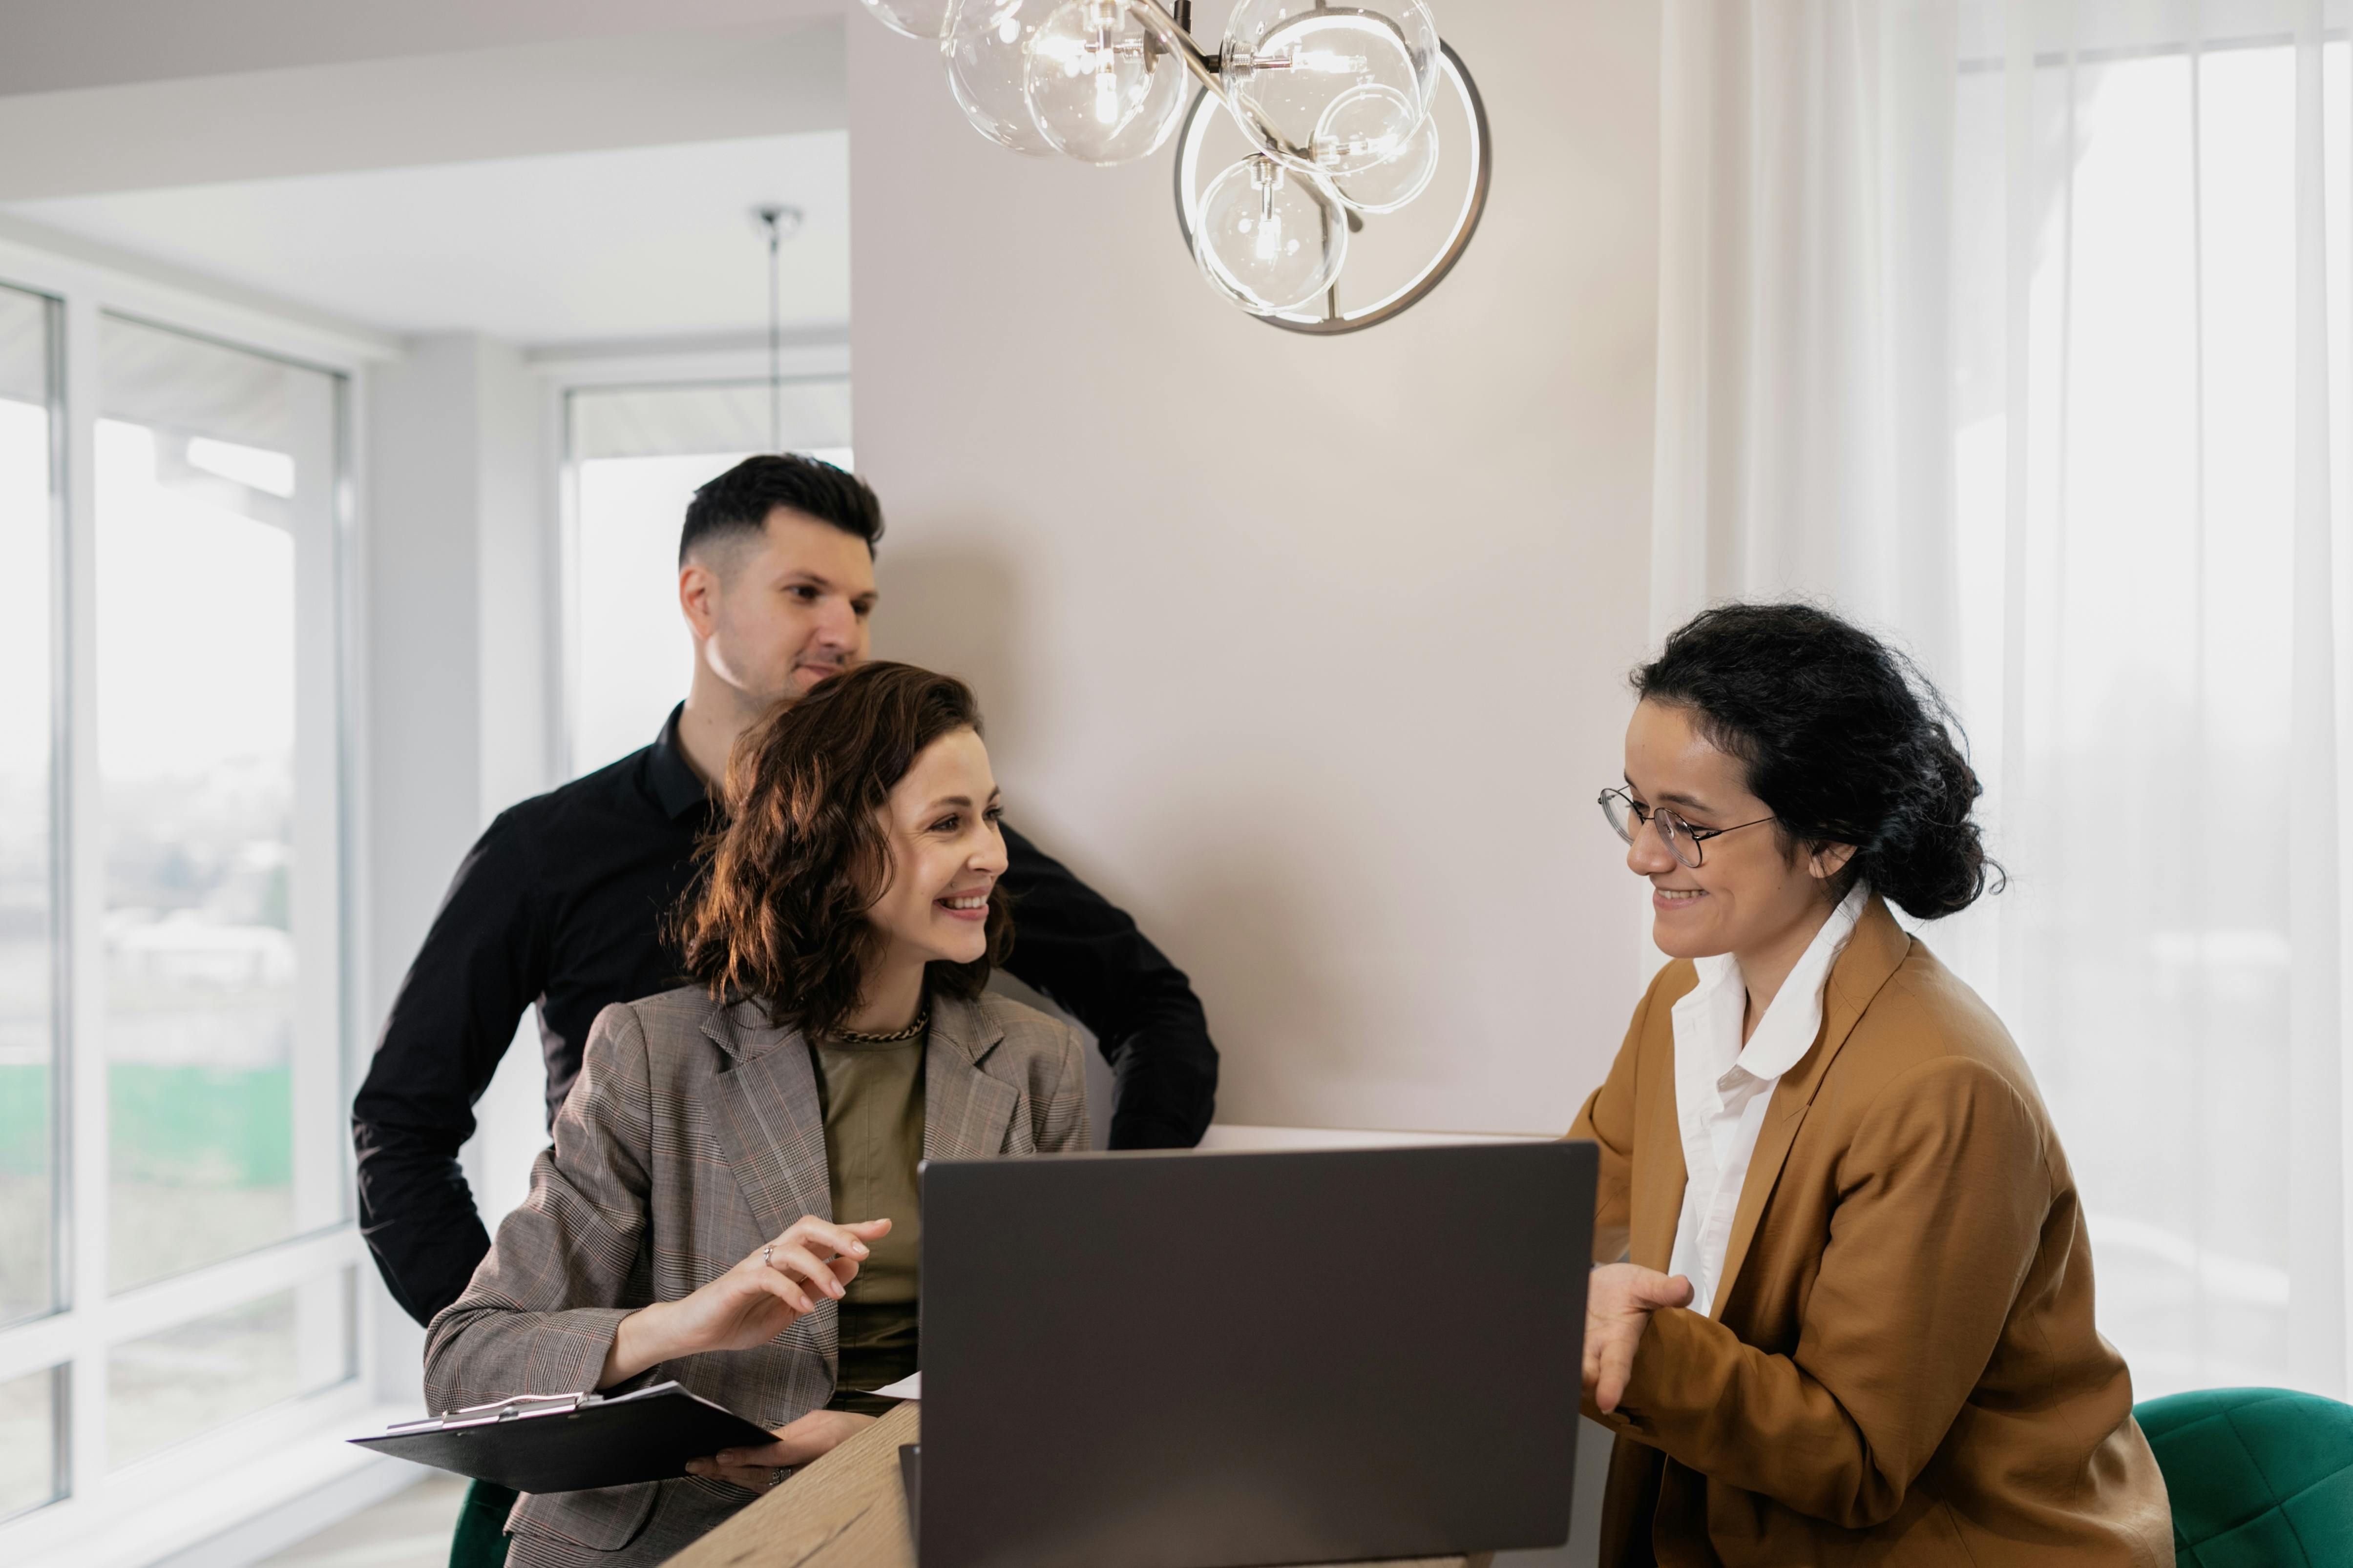
[[[595,1016],[680,983],[664,919],[694,879],[708,825],[711,797],[671,712],[642,752],[504,811],[459,865],[353,1103],[360,1232],[419,1324],[459,1298],[489,1251],[456,1154],[515,1020],[536,1004],[553,1121]],[[1118,1074],[1111,1147],[1200,1143],[1217,1046],[1193,985],[1134,919],[1012,827],[1005,849],[1016,900],[1007,969],[1101,1041]]]

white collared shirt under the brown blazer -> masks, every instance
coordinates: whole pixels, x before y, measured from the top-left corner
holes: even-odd
[[[1682,1001],[1675,1004],[1675,1121],[1682,1128],[1682,1215],[1675,1220],[1675,1251],[1666,1272],[1692,1281],[1692,1312],[1715,1309],[1718,1274],[1732,1241],[1732,1215],[1741,1206],[1741,1182],[1748,1180],[1748,1157],[1765,1126],[1765,1107],[1781,1074],[1814,1048],[1821,1032],[1821,990],[1831,964],[1854,936],[1871,889],[1854,884],[1831,919],[1788,971],[1772,1006],[1758,1020],[1755,1034],[1741,1046],[1741,1016],[1748,1011],[1748,983],[1729,952],[1692,959],[1699,971]]]

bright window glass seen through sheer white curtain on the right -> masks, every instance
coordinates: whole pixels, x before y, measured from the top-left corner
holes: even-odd
[[[2346,45],[2320,56],[2344,397]],[[1998,999],[2066,1133],[2101,1331],[2139,1396],[2299,1382],[2289,889],[2306,844],[2217,813],[2242,790],[2289,811],[2297,71],[2278,38],[2033,71],[2024,259],[2000,71],[1962,78],[1953,136],[1953,696],[2019,875],[1927,940]],[[2012,451],[2033,454],[2026,473]]]

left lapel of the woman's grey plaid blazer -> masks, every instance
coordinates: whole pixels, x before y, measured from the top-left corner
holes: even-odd
[[[760,1234],[779,1237],[805,1213],[831,1220],[826,1117],[800,1030],[779,1030],[744,1001],[713,1006],[704,1034],[729,1058],[718,1077],[711,1121]]]

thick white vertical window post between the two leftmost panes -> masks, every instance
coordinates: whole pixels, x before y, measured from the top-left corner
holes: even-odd
[[[99,813],[96,693],[96,418],[99,310],[71,294],[66,327],[66,1258],[71,1335],[68,1486],[89,1497],[106,1476],[106,837]]]

